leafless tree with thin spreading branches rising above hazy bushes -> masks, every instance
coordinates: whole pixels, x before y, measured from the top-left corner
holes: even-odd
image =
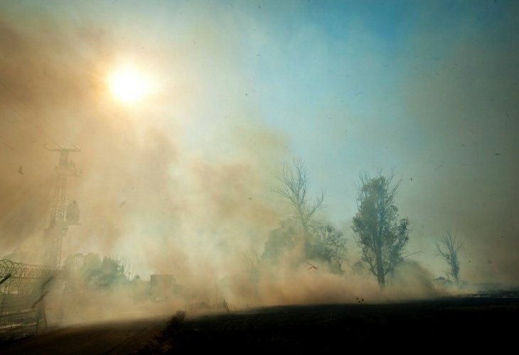
[[[303,234],[307,238],[311,218],[324,207],[324,192],[321,191],[321,195],[314,200],[309,200],[307,194],[310,180],[304,163],[299,159],[294,160],[290,165],[284,165],[278,180],[281,186],[275,192],[289,201],[294,209],[296,220],[301,224]]]

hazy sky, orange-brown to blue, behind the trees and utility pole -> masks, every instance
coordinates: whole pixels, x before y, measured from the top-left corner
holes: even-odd
[[[451,229],[462,278],[517,283],[518,18],[503,0],[0,1],[2,255],[41,238],[43,145],[65,144],[83,169],[65,256],[224,273],[261,253],[298,157],[346,235],[359,174],[394,169],[417,261],[442,273]],[[139,102],[109,92],[124,65],[153,85]]]

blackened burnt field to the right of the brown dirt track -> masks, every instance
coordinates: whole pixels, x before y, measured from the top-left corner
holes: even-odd
[[[519,342],[519,294],[459,297],[390,305],[269,307],[242,313],[170,320],[144,353],[191,351],[336,353],[378,349],[514,352]],[[509,346],[513,346],[510,349]]]

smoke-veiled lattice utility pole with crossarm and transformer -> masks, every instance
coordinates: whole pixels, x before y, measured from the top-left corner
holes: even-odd
[[[54,197],[50,207],[48,227],[45,229],[43,239],[46,244],[46,263],[50,266],[60,267],[61,243],[63,236],[67,234],[68,226],[79,224],[79,207],[74,200],[67,206],[67,177],[80,176],[81,171],[75,168],[75,163],[68,159],[68,153],[79,152],[80,148],[49,148],[48,151],[60,153],[58,166],[56,166],[56,185]]]

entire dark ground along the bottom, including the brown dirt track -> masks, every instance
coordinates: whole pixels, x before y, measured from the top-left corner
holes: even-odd
[[[519,294],[385,305],[267,307],[163,320],[57,329],[0,344],[1,354],[196,354],[225,351],[336,353],[454,349],[512,351],[519,342]],[[166,327],[164,327],[166,326]],[[510,348],[510,346],[512,346]]]

